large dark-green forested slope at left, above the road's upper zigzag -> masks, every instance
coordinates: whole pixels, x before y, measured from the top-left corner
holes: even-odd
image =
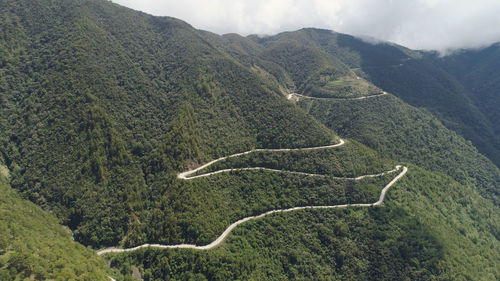
[[[79,241],[118,243],[176,170],[335,142],[204,32],[105,1],[51,3],[1,3],[15,58],[2,69],[2,154],[12,185]]]

